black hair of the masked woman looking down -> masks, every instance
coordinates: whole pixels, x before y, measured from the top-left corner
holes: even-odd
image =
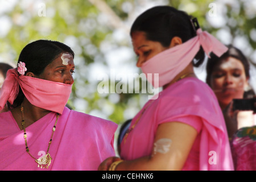
[[[196,36],[192,16],[171,6],[155,6],[144,11],[131,26],[130,36],[135,31],[143,31],[147,40],[159,42],[163,47],[169,47],[175,36],[178,36],[183,43]],[[204,57],[204,50],[200,47],[194,58],[196,59],[196,62],[193,62],[194,67],[199,67]]]

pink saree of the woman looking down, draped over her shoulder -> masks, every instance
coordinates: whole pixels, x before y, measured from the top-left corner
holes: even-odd
[[[147,107],[146,111],[126,142],[122,140],[122,159],[150,156],[158,125],[180,121],[198,132],[183,170],[234,169],[222,111],[207,84],[196,78],[184,78],[160,92],[156,100],[148,101],[144,107]],[[141,111],[131,121],[130,127]]]

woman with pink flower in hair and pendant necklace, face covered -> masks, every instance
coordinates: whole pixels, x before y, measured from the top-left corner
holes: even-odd
[[[74,53],[38,40],[23,48],[0,90],[1,170],[96,170],[115,155],[117,124],[65,107]]]

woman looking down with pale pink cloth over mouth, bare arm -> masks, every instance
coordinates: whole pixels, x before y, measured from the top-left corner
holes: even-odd
[[[135,20],[130,31],[142,69],[163,87],[131,121],[120,156],[99,170],[233,170],[228,134],[212,89],[196,77],[205,53],[227,48],[195,18],[170,6],[156,6]],[[156,79],[154,79],[156,78]]]

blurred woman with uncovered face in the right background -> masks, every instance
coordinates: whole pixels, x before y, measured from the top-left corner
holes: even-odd
[[[240,49],[231,45],[228,48],[221,57],[212,54],[208,60],[207,83],[216,94],[224,114],[235,169],[255,171],[255,110],[245,107],[235,109],[237,105],[233,101],[255,97],[249,85],[250,64]]]

